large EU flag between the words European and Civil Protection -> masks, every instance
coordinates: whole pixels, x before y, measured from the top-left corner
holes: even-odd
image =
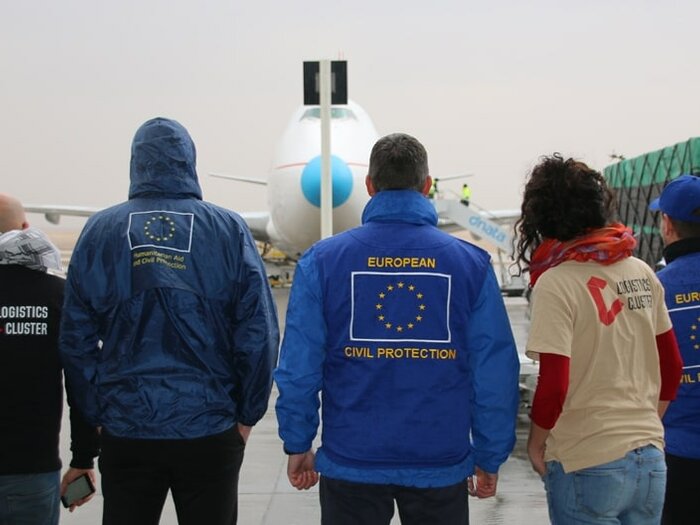
[[[353,272],[353,341],[449,343],[450,275]]]

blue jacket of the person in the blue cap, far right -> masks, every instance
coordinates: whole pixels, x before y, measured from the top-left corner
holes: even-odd
[[[700,459],[700,239],[677,241],[669,248],[685,253],[658,273],[683,358],[681,384],[663,418],[666,451]]]

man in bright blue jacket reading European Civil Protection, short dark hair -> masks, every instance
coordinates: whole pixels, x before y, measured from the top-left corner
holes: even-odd
[[[468,523],[467,492],[496,493],[515,443],[519,361],[490,258],[436,227],[431,184],[420,142],[381,138],[362,226],[295,270],[276,411],[292,486],[320,474],[323,524],[388,524],[395,502],[404,524]]]

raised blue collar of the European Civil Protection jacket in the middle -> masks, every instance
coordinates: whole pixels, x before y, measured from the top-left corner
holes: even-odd
[[[362,224],[374,221],[436,226],[438,216],[433,203],[420,192],[384,190],[376,193],[362,212]]]

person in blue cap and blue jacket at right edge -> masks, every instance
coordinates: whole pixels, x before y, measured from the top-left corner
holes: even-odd
[[[700,493],[700,177],[681,175],[649,205],[661,211],[666,267],[659,273],[683,358],[676,400],[664,414],[663,525],[693,521]]]

